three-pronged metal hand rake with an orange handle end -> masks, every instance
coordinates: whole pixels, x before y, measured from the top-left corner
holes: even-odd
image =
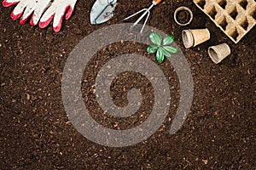
[[[132,26],[136,26],[136,25],[139,23],[139,21],[143,20],[143,17],[144,17],[146,14],[148,14],[147,17],[146,17],[146,20],[144,21],[143,27],[142,27],[142,29],[141,29],[141,33],[142,33],[142,32],[143,32],[143,29],[144,29],[144,27],[146,26],[146,23],[147,23],[147,21],[148,21],[148,17],[149,17],[149,15],[150,15],[150,9],[153,8],[154,5],[159,4],[161,1],[162,1],[162,0],[154,0],[154,1],[152,2],[152,5],[151,5],[149,8],[143,8],[142,10],[138,11],[138,12],[135,13],[135,14],[131,14],[131,16],[128,16],[128,17],[125,18],[124,20],[129,20],[129,19],[131,19],[132,17],[134,17],[135,15],[140,14],[140,13],[143,13],[143,11],[144,11],[144,13],[140,16],[140,18],[132,25]]]

